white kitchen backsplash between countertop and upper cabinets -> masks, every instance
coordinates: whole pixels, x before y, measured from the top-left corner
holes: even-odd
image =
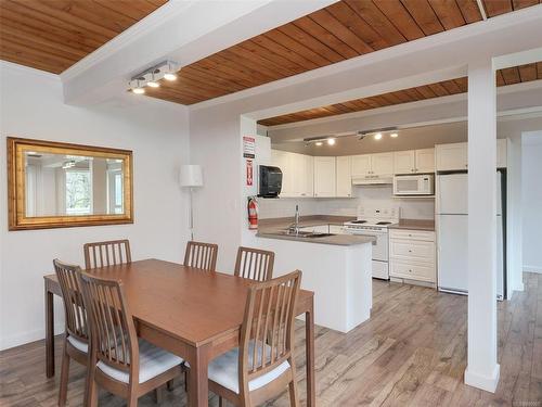
[[[401,218],[434,219],[435,200],[423,198],[396,199],[391,186],[353,187],[354,198],[279,198],[259,199],[261,219],[294,216],[296,204],[301,216],[340,215],[356,216],[359,205],[397,205],[401,206]]]

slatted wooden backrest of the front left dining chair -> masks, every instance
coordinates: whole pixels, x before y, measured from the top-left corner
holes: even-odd
[[[137,371],[138,338],[121,282],[87,274],[80,280],[96,359],[115,369]]]

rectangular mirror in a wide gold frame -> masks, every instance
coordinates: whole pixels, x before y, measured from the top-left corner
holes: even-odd
[[[8,138],[10,230],[133,222],[132,152]]]

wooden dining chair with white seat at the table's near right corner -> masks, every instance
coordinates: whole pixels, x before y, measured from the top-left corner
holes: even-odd
[[[294,318],[301,271],[257,282],[248,289],[240,347],[215,358],[209,390],[237,406],[256,406],[289,387],[298,406],[294,365]]]

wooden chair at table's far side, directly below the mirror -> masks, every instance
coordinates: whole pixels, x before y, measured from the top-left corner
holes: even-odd
[[[131,263],[130,241],[109,240],[106,242],[86,243],[85,268],[114,266],[117,264]]]

